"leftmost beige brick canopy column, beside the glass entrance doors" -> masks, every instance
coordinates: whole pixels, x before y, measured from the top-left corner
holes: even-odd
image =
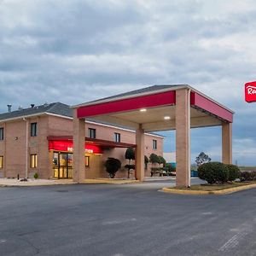
[[[83,183],[85,178],[85,123],[84,119],[77,118],[77,109],[73,111],[73,181],[75,183]]]

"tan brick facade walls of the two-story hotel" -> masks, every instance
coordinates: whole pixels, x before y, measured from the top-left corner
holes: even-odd
[[[27,124],[26,124],[27,122]],[[31,137],[31,124],[38,123],[38,136]],[[0,122],[0,128],[4,129],[3,141],[0,141],[0,156],[3,156],[3,168],[0,168],[0,177],[26,176],[26,125],[28,125],[28,153],[27,166],[28,176],[32,177],[35,172],[40,178],[53,178],[53,151],[49,151],[49,136],[72,136],[73,119],[49,114],[40,114],[36,117],[26,119],[15,119]],[[121,143],[136,143],[135,131],[121,129],[111,125],[102,125],[91,122],[85,123],[85,137],[89,137],[88,129],[96,129],[96,138],[112,141],[114,132],[120,134]],[[153,149],[153,139],[157,141],[157,149]],[[116,177],[127,177],[124,166],[128,163],[125,160],[126,148],[109,148],[103,154],[86,154],[90,156],[90,166],[85,168],[85,177],[108,177],[105,171],[104,162],[108,157],[114,157],[122,162],[122,168],[117,172]],[[145,135],[145,154],[163,154],[163,137]],[[31,167],[31,154],[37,154],[38,167]],[[145,170],[145,176],[150,176],[150,164]],[[134,177],[134,172],[131,172]]]

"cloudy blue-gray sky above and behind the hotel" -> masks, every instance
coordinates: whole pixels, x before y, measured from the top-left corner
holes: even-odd
[[[233,161],[256,166],[253,0],[0,0],[0,113],[31,103],[70,105],[153,84],[190,84],[236,112]],[[164,150],[175,151],[175,132]],[[221,159],[221,128],[191,131]]]

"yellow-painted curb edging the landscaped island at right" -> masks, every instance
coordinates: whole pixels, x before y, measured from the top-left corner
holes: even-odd
[[[179,194],[179,195],[228,195],[241,190],[255,189],[255,188],[256,188],[256,184],[250,184],[250,185],[239,186],[236,188],[212,190],[212,191],[168,189],[168,188],[163,188],[163,189],[160,189],[159,191],[165,192],[165,193],[171,193],[171,194]]]

